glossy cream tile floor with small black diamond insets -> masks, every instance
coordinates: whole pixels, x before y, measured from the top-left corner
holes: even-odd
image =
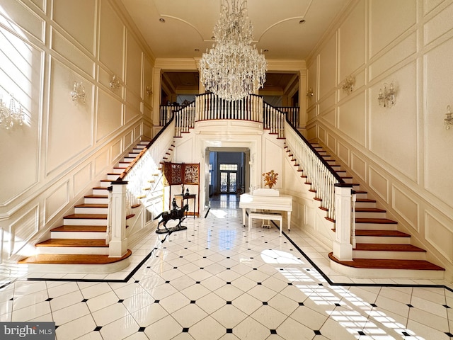
[[[113,274],[29,274],[0,289],[0,321],[55,322],[57,339],[418,339],[453,337],[453,285],[354,280],[293,228],[242,227],[236,196],[188,229],[132,244]],[[28,280],[27,280],[28,278]]]

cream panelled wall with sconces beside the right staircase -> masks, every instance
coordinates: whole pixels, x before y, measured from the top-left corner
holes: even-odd
[[[307,136],[335,152],[450,278],[452,17],[452,0],[352,1],[307,60]],[[390,82],[396,104],[384,108],[377,96]]]

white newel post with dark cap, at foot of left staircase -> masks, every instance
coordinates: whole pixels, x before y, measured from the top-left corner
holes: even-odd
[[[112,225],[108,257],[122,257],[127,252],[126,237],[126,185],[127,181],[112,182],[110,222]]]

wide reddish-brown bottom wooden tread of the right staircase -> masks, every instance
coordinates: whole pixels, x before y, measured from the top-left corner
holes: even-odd
[[[352,268],[372,268],[372,269],[406,269],[418,271],[445,271],[445,268],[424,260],[388,260],[388,259],[352,259],[352,261],[340,261],[328,254],[329,259],[340,263],[343,266]]]

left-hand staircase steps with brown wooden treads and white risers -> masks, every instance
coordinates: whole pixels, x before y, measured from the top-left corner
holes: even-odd
[[[27,265],[29,271],[50,272],[52,268],[59,271],[85,271],[85,272],[113,272],[129,265],[130,249],[121,258],[108,257],[108,244],[106,244],[106,229],[108,218],[108,186],[111,181],[118,179],[131,162],[149,144],[149,141],[139,142],[122,159],[121,162],[102,179],[99,186],[84,196],[84,203],[74,206],[74,213],[63,217],[63,224],[50,231],[50,239],[35,244],[38,254],[18,261],[21,265]],[[168,149],[165,159],[173,151],[174,145]],[[149,187],[144,188],[141,198],[147,197],[147,191],[153,190],[152,183],[155,181],[151,174]],[[126,220],[134,217],[133,210],[139,205],[132,205],[130,215]],[[126,221],[126,224],[127,224]],[[40,266],[46,264],[47,266]],[[79,266],[66,266],[66,265]],[[87,265],[104,266],[87,266]]]

